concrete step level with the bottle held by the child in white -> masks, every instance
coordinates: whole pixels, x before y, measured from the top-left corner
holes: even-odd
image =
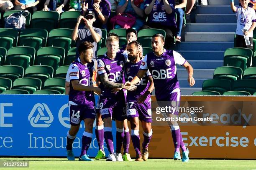
[[[185,41],[233,41],[235,32],[186,32]]]

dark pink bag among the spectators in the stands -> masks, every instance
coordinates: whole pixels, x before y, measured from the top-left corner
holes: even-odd
[[[115,25],[120,25],[121,28],[127,29],[131,28],[136,23],[136,18],[131,14],[123,13],[111,18],[110,23],[112,24],[113,29]]]

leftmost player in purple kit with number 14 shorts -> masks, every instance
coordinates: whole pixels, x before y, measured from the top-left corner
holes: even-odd
[[[92,161],[87,155],[92,141],[92,125],[95,120],[94,92],[100,95],[99,87],[93,87],[94,74],[97,70],[93,67],[93,45],[91,42],[82,42],[79,45],[79,58],[69,66],[70,91],[69,114],[70,130],[67,132],[67,158],[74,160],[72,144],[79,130],[80,122],[84,120],[86,129],[82,136],[82,151],[79,160]]]

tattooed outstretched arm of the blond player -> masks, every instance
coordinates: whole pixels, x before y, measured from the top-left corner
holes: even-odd
[[[101,74],[100,76],[100,81],[104,85],[104,87],[109,87],[109,88],[123,88],[126,90],[134,90],[137,87],[135,85],[132,85],[131,87],[125,86],[123,83],[116,83],[108,80],[108,75],[107,74]]]

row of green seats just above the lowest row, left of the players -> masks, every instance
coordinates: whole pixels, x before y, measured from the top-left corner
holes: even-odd
[[[61,94],[65,93],[65,78],[46,79],[44,85],[39,78],[18,78],[12,81],[9,78],[0,78],[0,92],[5,90],[27,90],[32,94],[36,90],[57,90]]]

